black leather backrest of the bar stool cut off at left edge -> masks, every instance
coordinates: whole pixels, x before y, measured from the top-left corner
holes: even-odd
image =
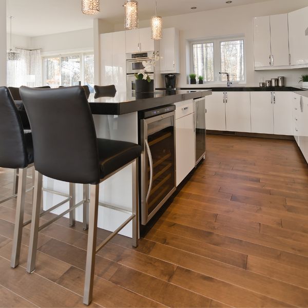
[[[28,166],[24,127],[7,87],[0,87],[0,166],[13,169]]]

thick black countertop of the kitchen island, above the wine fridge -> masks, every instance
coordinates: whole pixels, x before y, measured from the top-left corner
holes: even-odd
[[[114,97],[103,97],[89,101],[92,114],[120,115],[171,105],[174,103],[198,99],[210,95],[210,90],[156,90],[154,92],[138,93],[135,100],[127,100],[126,92],[117,92]]]

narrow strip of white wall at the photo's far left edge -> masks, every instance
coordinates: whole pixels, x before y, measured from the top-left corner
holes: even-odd
[[[6,2],[0,1],[0,42],[6,42]],[[6,57],[5,44],[0,44],[0,86],[6,85]]]

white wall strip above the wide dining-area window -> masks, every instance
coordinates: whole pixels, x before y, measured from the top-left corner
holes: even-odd
[[[93,50],[93,45],[92,28],[31,37],[31,49],[42,48],[43,54]]]

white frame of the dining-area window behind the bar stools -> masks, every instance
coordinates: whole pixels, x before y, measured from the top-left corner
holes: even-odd
[[[81,79],[81,84],[84,85],[85,84],[85,56],[86,55],[94,55],[94,51],[72,51],[72,52],[65,52],[65,53],[52,53],[52,54],[44,54],[42,55],[42,68],[43,68],[43,74],[42,74],[42,78],[43,78],[43,84],[46,83],[46,70],[45,70],[45,66],[44,66],[44,61],[45,59],[51,58],[51,57],[59,57],[60,59],[60,86],[62,86],[62,72],[61,72],[61,68],[62,68],[62,57],[66,57],[66,56],[76,56],[78,55],[80,57],[80,79]]]

